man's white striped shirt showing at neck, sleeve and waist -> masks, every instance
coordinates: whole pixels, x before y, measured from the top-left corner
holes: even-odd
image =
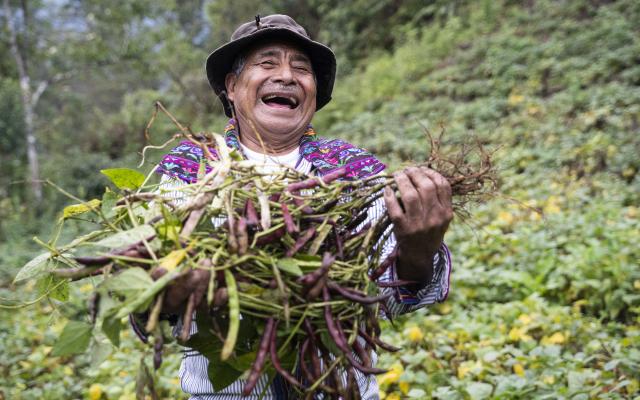
[[[250,160],[264,162],[267,168],[273,168],[278,164],[285,164],[288,167],[293,167],[297,171],[311,174],[312,164],[302,156],[291,157],[291,154],[273,157],[264,156],[259,153],[252,152],[246,147],[242,146],[245,157]],[[297,150],[296,150],[297,151]],[[160,186],[161,193],[168,197],[173,197],[177,202],[183,200],[183,194],[177,191],[176,188],[185,185],[185,183],[178,181],[174,178],[163,175],[162,184]],[[368,222],[376,221],[384,216],[386,207],[383,198],[379,198],[374,202],[368,210],[368,218],[360,227],[364,226]],[[214,225],[219,226],[224,222],[223,220],[212,221]],[[359,229],[358,227],[357,229]],[[390,226],[389,230],[393,227]],[[356,229],[356,230],[357,230]],[[378,245],[382,246],[381,260],[387,258],[387,256],[393,251],[396,246],[396,239],[393,232],[388,232],[388,238]],[[383,235],[387,236],[387,235]],[[384,294],[389,291],[393,292],[393,295],[389,297],[386,302],[390,317],[400,314],[414,311],[423,306],[433,304],[436,302],[442,302],[447,298],[449,293],[449,278],[451,274],[451,255],[447,247],[443,244],[440,250],[436,253],[433,259],[433,279],[424,288],[417,292],[411,292],[410,290],[400,288],[381,288],[380,291]],[[395,265],[392,265],[387,271],[379,278],[380,282],[391,282],[397,280],[397,274]],[[195,320],[195,318],[194,318]],[[176,332],[179,332],[180,326],[176,326]],[[197,326],[195,322],[191,326],[191,334],[197,332]],[[375,365],[377,356],[372,353],[372,361]],[[190,395],[190,400],[236,400],[236,399],[283,399],[287,398],[285,393],[285,387],[276,379],[273,383],[269,381],[267,376],[262,376],[255,389],[250,396],[243,397],[242,390],[244,388],[245,380],[238,379],[231,385],[227,386],[221,391],[215,391],[213,385],[209,380],[207,374],[209,362],[200,353],[193,349],[186,349],[184,351],[182,363],[180,365],[180,385],[185,393]],[[360,389],[360,394],[363,400],[374,400],[379,398],[378,384],[374,375],[365,376],[359,371],[356,372],[356,381]],[[215,377],[213,378],[215,379]],[[345,377],[343,377],[345,380]],[[290,397],[289,397],[290,398]],[[321,398],[317,396],[317,398]]]

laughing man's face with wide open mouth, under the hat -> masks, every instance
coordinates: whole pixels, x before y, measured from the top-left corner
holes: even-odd
[[[304,132],[316,111],[316,81],[309,57],[280,42],[251,49],[239,76],[228,74],[227,95],[240,122],[261,134]],[[251,128],[250,128],[251,129]]]

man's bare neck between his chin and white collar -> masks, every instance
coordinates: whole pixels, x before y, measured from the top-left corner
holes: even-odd
[[[274,156],[291,153],[300,145],[301,132],[292,132],[286,135],[275,135],[269,132],[260,132],[251,124],[238,121],[238,138],[240,143],[249,149]]]

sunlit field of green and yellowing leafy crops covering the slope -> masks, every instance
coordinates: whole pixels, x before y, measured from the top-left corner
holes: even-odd
[[[474,136],[496,149],[502,183],[448,233],[447,302],[387,324],[404,350],[381,356],[381,397],[640,398],[637,21],[632,0],[478,2],[338,78],[321,135],[399,168],[442,124],[449,145]],[[27,240],[0,243],[3,281]],[[0,285],[3,298],[37,293]],[[135,398],[136,340],[93,360],[52,357],[60,317],[85,313],[56,307],[0,310],[0,399]],[[178,365],[175,354],[157,374],[166,398],[183,396]]]

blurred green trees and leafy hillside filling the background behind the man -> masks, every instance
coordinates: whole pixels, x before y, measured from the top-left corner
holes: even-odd
[[[293,15],[339,57],[334,100],[315,119],[322,134],[361,144],[392,168],[424,157],[425,128],[441,125],[452,146],[473,135],[499,148],[501,195],[447,237],[449,300],[387,327],[405,350],[382,356],[391,369],[381,396],[638,396],[638,2],[9,3],[33,80],[51,80],[36,107],[42,177],[87,199],[104,190],[99,169],[139,161],[155,100],[196,130],[219,131],[206,54],[258,12]],[[45,187],[35,204],[24,183],[6,35],[3,25],[0,297],[12,305],[38,297],[36,285],[11,281],[37,250],[30,238],[48,237],[67,200]],[[163,123],[154,144],[173,133]],[[66,318],[85,318],[84,307],[52,300],[0,310],[0,399],[135,397],[133,338],[117,353],[50,354]],[[175,354],[157,374],[163,396],[181,396],[178,364]]]

